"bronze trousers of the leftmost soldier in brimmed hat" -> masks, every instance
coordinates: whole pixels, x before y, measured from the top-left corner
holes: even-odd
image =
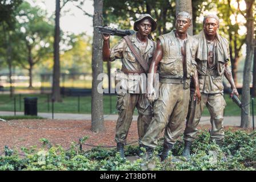
[[[118,94],[117,110],[118,120],[115,129],[115,142],[126,143],[128,131],[135,107],[138,110],[138,135],[139,140],[145,135],[147,127],[152,120],[152,108],[146,94]]]

